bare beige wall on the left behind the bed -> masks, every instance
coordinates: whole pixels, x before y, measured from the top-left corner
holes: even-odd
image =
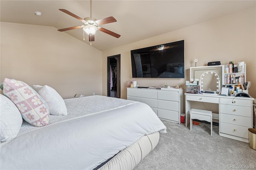
[[[1,22],[0,82],[49,85],[64,98],[102,94],[102,52],[50,26]]]

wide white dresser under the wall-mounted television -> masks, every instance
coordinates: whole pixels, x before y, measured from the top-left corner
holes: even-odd
[[[149,105],[160,119],[180,123],[182,89],[127,88],[127,99]]]

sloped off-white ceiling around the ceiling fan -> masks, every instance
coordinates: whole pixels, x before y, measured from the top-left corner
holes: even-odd
[[[255,0],[92,0],[92,17],[98,20],[113,16],[117,22],[102,27],[121,35],[114,38],[97,31],[92,46],[104,51],[252,8],[255,4]],[[53,26],[56,32],[83,25],[60,8],[80,18],[90,17],[90,0],[1,0],[0,21]],[[36,11],[42,15],[36,16]],[[83,41],[82,28],[63,34]],[[90,44],[88,35],[85,36],[85,43]]]

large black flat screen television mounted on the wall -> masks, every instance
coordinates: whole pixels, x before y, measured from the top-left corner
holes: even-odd
[[[132,77],[184,78],[184,40],[131,50]]]

